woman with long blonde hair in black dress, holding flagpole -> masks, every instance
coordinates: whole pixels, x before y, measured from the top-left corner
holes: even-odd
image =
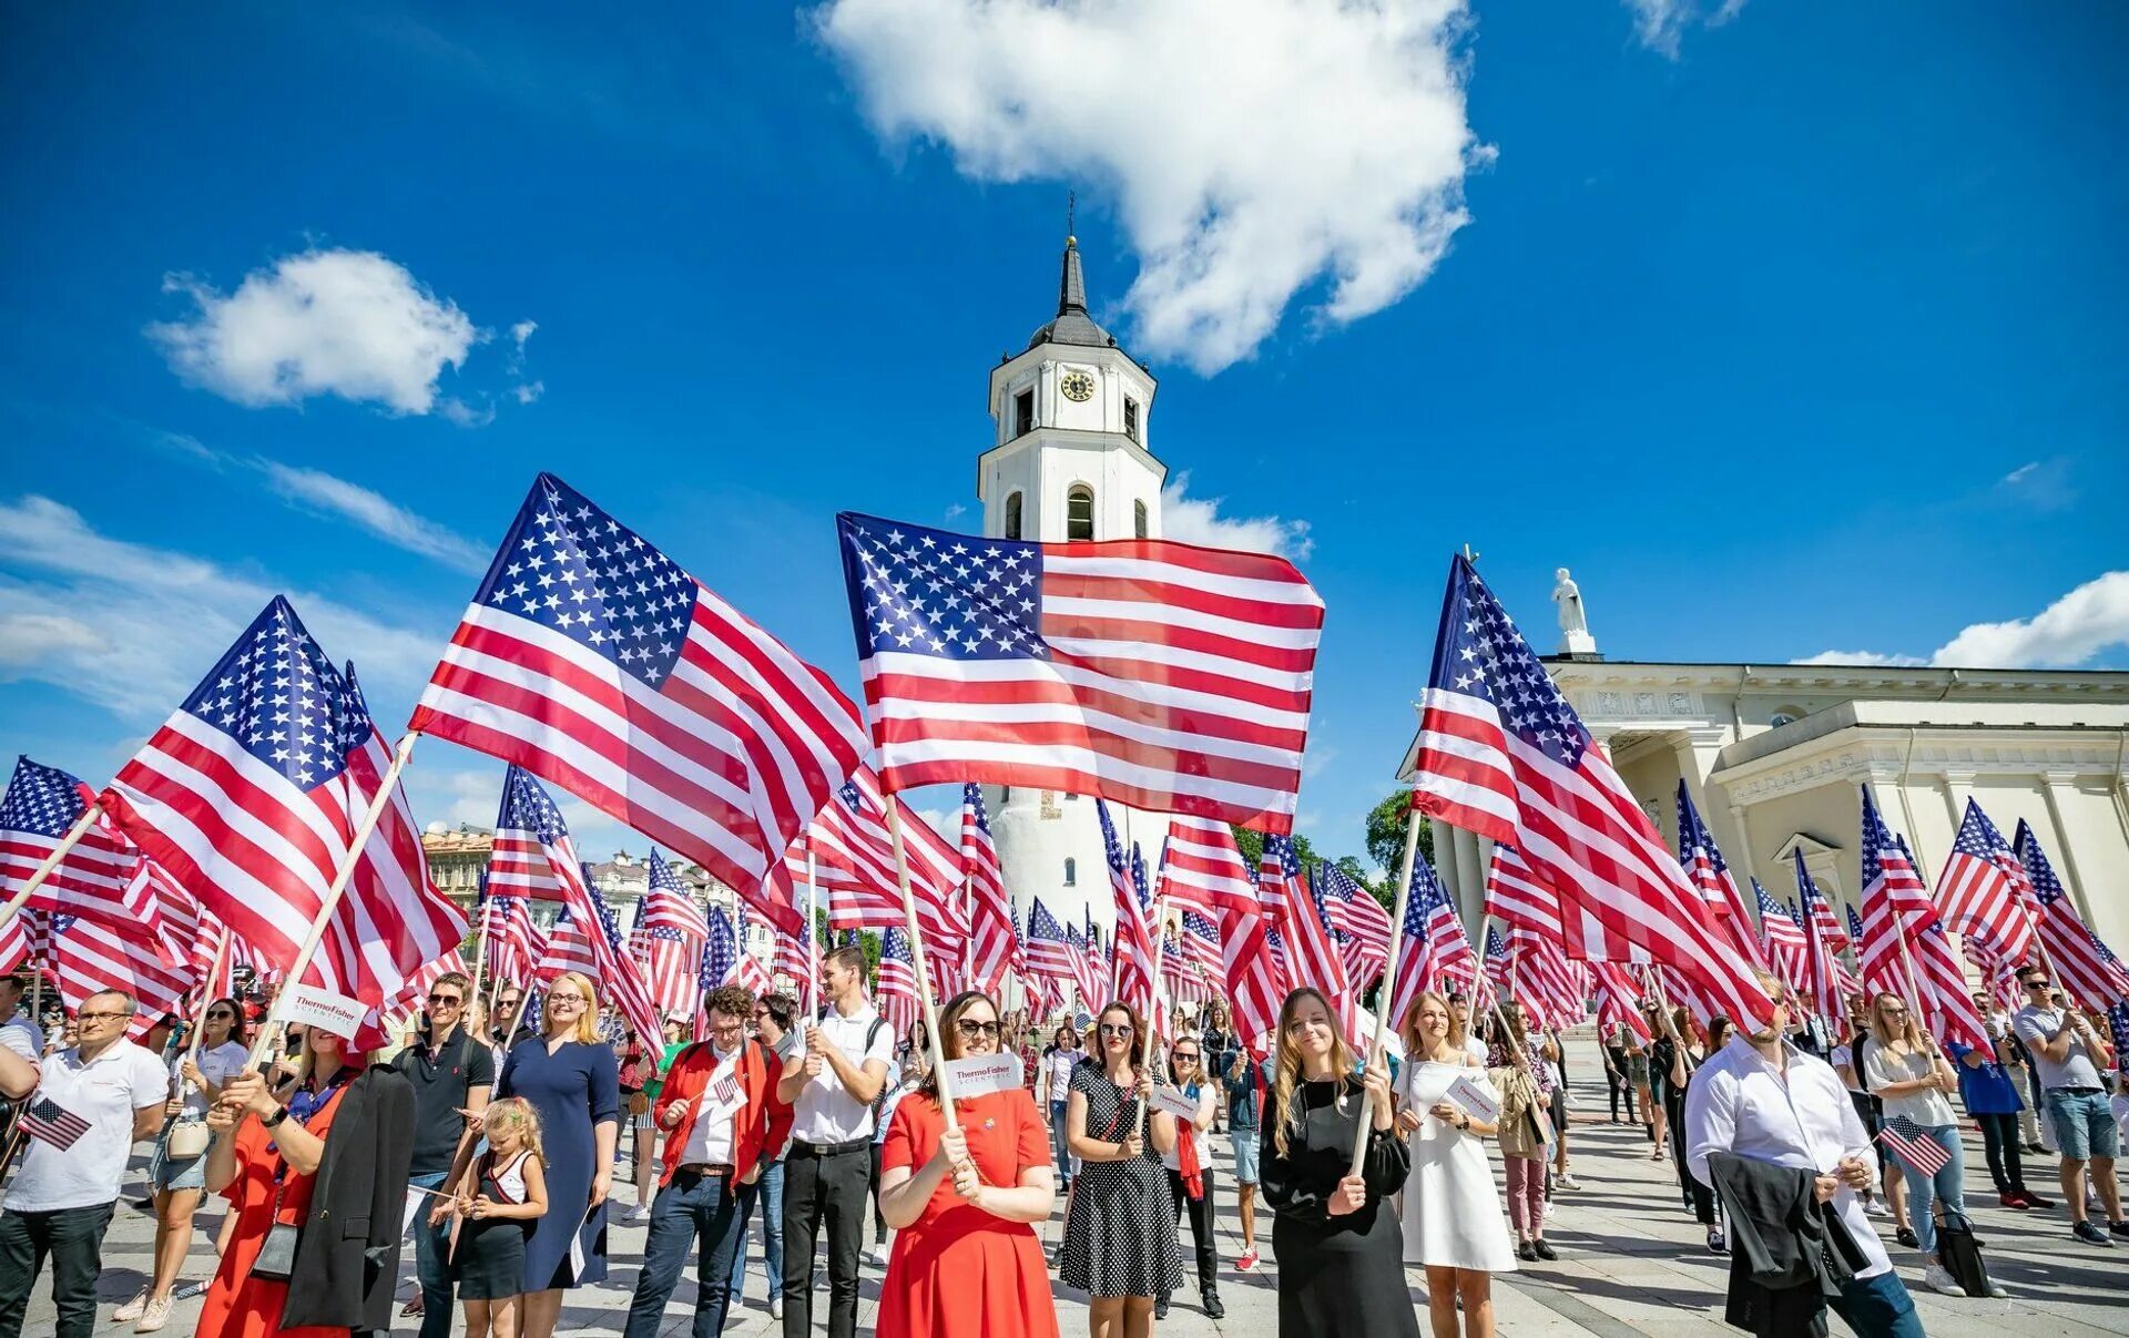
[[[1412,1153],[1392,1132],[1388,1070],[1354,1074],[1331,1002],[1297,989],[1280,1008],[1273,1072],[1258,1181],[1277,1210],[1280,1338],[1420,1338],[1390,1208]],[[1348,1176],[1363,1091],[1373,1098],[1367,1157]]]

